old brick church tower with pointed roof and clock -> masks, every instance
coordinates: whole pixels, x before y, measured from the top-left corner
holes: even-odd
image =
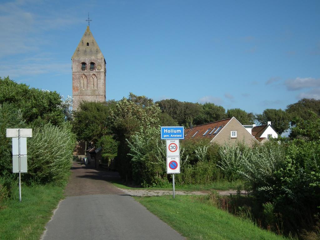
[[[73,109],[82,101],[106,101],[106,60],[89,26],[71,60]]]

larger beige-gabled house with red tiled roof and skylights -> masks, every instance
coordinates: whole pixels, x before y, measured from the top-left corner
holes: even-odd
[[[259,143],[235,117],[186,128],[184,138],[195,140],[208,138],[218,144],[244,141],[248,146],[253,146]]]

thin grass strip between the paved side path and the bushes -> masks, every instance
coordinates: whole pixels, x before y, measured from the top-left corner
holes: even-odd
[[[243,186],[243,181],[237,180],[234,182],[228,182],[228,181],[218,181],[214,182],[208,185],[185,185],[185,186],[175,186],[176,190],[182,190],[182,191],[203,191],[203,190],[229,190],[229,189],[234,189],[236,190],[237,187]],[[136,187],[130,187],[127,186],[120,181],[118,182],[112,182],[113,185],[115,185],[118,188],[124,188],[124,189],[150,189],[150,190],[172,190],[172,184],[171,187],[168,188],[136,188]]]

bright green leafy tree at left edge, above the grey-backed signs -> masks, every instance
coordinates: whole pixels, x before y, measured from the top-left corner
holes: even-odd
[[[65,121],[65,105],[60,94],[48,90],[29,88],[0,77],[0,104],[7,102],[21,110],[27,123],[35,125],[51,123],[59,125]]]

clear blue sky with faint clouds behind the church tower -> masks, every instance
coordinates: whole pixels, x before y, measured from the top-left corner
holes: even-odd
[[[107,100],[133,92],[257,114],[320,99],[320,1],[1,0],[0,76],[72,95],[88,12]]]

